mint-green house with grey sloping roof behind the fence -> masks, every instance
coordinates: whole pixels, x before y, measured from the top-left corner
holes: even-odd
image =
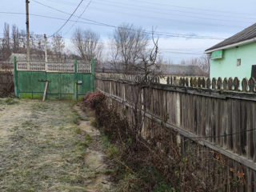
[[[205,51],[210,78],[256,78],[256,23]]]

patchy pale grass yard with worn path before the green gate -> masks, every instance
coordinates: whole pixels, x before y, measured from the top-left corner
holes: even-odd
[[[99,133],[82,115],[70,102],[1,99],[0,191],[110,191]]]

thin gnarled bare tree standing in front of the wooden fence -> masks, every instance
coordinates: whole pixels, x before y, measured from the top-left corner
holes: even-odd
[[[138,61],[130,66],[130,71],[136,76],[136,81],[132,88],[133,101],[130,103],[130,105],[134,106],[133,137],[137,138],[134,141],[136,142],[135,146],[137,146],[137,142],[142,138],[142,127],[146,117],[146,111],[150,109],[154,82],[158,82],[158,79],[163,77],[162,63],[158,62],[158,39],[154,39],[154,32],[152,32],[152,42],[153,47],[141,52],[138,55]]]

